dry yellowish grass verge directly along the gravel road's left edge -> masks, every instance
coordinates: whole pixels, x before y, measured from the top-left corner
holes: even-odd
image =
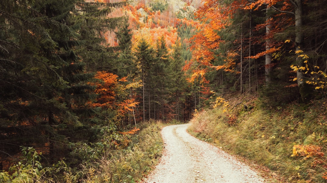
[[[86,176],[84,175],[85,179],[82,182],[134,183],[141,181],[162,155],[163,141],[160,131],[164,125],[160,121],[139,124],[142,130],[130,137],[129,145],[103,157],[96,169],[84,171]],[[84,170],[87,169],[87,167],[84,168]]]

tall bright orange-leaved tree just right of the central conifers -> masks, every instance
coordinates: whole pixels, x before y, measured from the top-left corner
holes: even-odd
[[[234,1],[231,4],[223,4],[218,0],[203,1],[203,6],[198,8],[196,18],[201,23],[198,24],[198,33],[191,38],[190,50],[193,58],[185,64],[184,71],[191,70],[192,74],[188,79],[194,82],[200,79],[203,94],[209,94],[209,81],[206,79],[206,73],[213,70],[223,69],[225,71],[234,71],[235,57],[238,55],[230,50],[224,55],[216,55],[215,50],[224,43],[224,40],[218,34],[219,31],[231,24],[233,13],[244,1]],[[224,62],[221,65],[214,65],[217,56],[223,57]]]

